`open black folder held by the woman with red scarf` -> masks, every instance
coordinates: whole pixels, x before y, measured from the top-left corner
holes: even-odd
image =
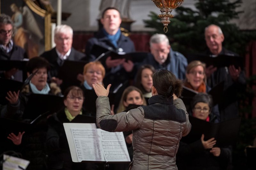
[[[202,134],[204,134],[205,141],[214,137],[216,140],[216,146],[218,147],[236,144],[241,118],[225,120],[220,123],[210,123],[197,119],[193,116],[189,116],[189,121],[192,128],[187,136],[181,138],[182,142],[196,142],[197,140],[200,140]]]

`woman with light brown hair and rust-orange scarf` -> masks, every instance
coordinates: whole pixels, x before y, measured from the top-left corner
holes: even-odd
[[[195,60],[188,64],[184,86],[199,93],[208,93],[211,90],[211,88],[206,84],[204,63]],[[212,108],[212,115],[214,115],[212,116],[212,119],[215,120],[215,123],[220,121],[220,112],[218,109],[218,105],[215,105]]]

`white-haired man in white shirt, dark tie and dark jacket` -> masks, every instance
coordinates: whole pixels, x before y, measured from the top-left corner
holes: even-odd
[[[59,25],[55,28],[54,43],[56,43],[56,46],[52,50],[45,51],[40,56],[47,59],[51,65],[48,75],[49,81],[55,82],[60,86],[62,80],[57,78],[60,66],[63,65],[65,60],[81,60],[85,57],[85,54],[72,47],[73,29],[68,25]]]

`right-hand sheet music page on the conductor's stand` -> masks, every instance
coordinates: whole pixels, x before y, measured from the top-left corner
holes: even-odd
[[[97,129],[106,162],[130,162],[123,132],[107,132]]]

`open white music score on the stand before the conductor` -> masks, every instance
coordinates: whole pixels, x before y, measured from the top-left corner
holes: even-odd
[[[63,123],[73,162],[130,162],[123,132],[97,129],[95,123]]]

